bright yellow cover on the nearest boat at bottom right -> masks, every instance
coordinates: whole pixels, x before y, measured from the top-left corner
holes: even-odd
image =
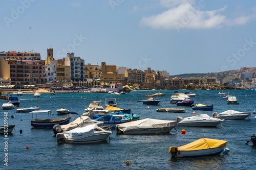
[[[194,142],[178,147],[178,151],[196,151],[224,147],[227,144],[225,140],[201,138]]]

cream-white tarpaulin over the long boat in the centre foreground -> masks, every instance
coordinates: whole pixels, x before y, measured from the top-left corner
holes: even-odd
[[[137,120],[134,122],[128,122],[116,126],[116,129],[119,129],[122,132],[128,131],[142,131],[146,129],[161,129],[161,128],[174,128],[177,125],[177,122],[174,120],[159,120],[152,118],[145,118],[142,120]]]

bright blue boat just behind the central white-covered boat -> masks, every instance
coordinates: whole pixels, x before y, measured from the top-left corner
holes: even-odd
[[[122,112],[120,112],[120,113],[117,112],[117,113],[114,113],[114,114],[108,114],[108,115],[98,117],[95,120],[103,121],[104,125],[115,127],[118,124],[132,122],[133,117],[124,115]]]

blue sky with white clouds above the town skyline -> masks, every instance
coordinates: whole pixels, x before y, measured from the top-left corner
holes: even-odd
[[[170,75],[256,66],[256,1],[0,0],[0,52]]]

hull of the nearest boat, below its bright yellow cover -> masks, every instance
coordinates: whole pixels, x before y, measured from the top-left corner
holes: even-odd
[[[199,157],[199,156],[210,156],[210,155],[219,155],[225,149],[224,147],[206,149],[206,150],[196,150],[196,151],[178,151],[177,157]]]

